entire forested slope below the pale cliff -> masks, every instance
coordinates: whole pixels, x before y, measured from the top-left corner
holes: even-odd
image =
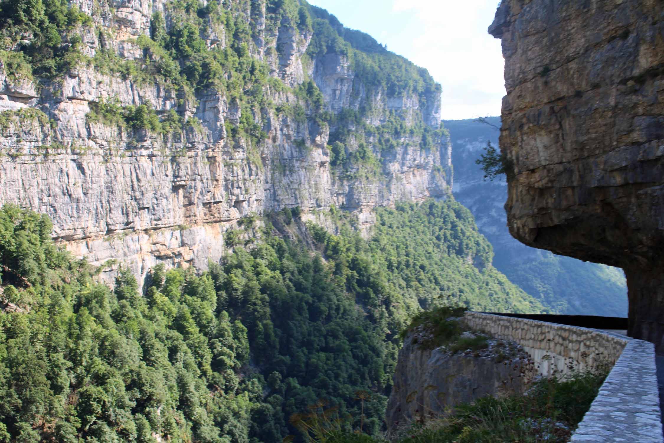
[[[46,217],[3,207],[0,437],[280,442],[318,400],[374,433],[420,306],[542,309],[489,266],[453,199],[379,209],[368,242],[331,217],[339,235],[285,211],[247,223],[257,242],[200,276],[154,268],[142,296],[127,270],[96,283],[100,268],[58,250]]]

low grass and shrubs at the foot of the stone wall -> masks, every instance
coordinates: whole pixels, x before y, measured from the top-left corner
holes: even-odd
[[[402,428],[394,443],[568,442],[596,397],[608,371],[574,372],[571,377],[535,381],[527,394],[483,397],[458,404],[444,418],[423,413]],[[325,443],[384,443],[366,434],[339,432]]]

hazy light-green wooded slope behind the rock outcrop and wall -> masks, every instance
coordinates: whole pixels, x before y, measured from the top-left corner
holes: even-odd
[[[542,309],[493,269],[491,245],[477,232],[469,211],[452,198],[376,209],[369,242],[349,229],[341,236],[313,225],[311,231],[334,260],[335,274],[357,291],[360,304],[371,308],[369,315],[380,317],[395,306],[415,313],[414,306],[434,304],[489,311]],[[388,329],[400,331],[402,326],[390,324]]]

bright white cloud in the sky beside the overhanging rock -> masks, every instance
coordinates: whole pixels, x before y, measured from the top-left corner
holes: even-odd
[[[443,86],[444,118],[497,115],[505,94],[500,41],[487,33],[495,0],[392,0],[392,13],[412,13],[418,26],[404,56]]]

